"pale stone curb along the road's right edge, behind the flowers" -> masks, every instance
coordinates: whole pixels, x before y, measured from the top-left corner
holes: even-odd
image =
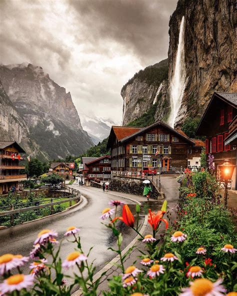
[[[122,196],[123,197],[123,196]],[[143,225],[140,228],[140,234],[143,234],[145,231],[145,228],[147,226],[147,218],[148,215],[145,215],[144,221],[143,221]],[[121,251],[121,255],[123,256],[130,247],[132,247],[136,242],[137,242],[137,238],[139,238],[139,234],[137,234],[130,243],[128,243],[128,245]],[[120,257],[118,255],[116,255],[110,262],[108,262],[105,266],[103,266],[99,271],[97,271],[94,276],[93,276],[93,282],[96,281],[103,272],[107,271],[108,269],[110,269],[112,266],[114,266],[114,264],[120,260]],[[82,289],[78,289],[75,292],[73,292],[71,294],[71,296],[79,296],[82,295],[83,290]]]

